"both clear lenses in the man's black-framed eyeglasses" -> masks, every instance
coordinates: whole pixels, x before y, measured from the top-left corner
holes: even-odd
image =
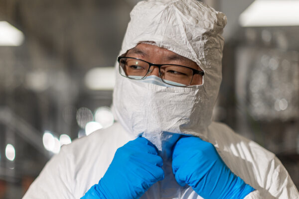
[[[149,63],[138,59],[121,58],[120,73],[131,79],[143,79],[149,71]],[[160,67],[160,78],[166,80],[167,84],[171,82],[189,85],[192,81],[193,71],[189,68],[163,65]],[[174,84],[175,85],[175,84]]]

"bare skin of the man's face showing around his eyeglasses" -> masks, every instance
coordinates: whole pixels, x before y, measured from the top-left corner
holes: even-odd
[[[202,69],[192,60],[180,56],[165,48],[160,48],[150,44],[144,44],[144,43],[138,44],[135,48],[130,49],[127,52],[126,56],[142,59],[153,64],[176,64],[176,65],[186,66],[186,67],[190,67],[202,71]],[[158,68],[152,66],[148,76],[150,75],[159,77]],[[201,85],[201,84],[202,84],[202,76],[199,74],[194,74],[190,85]]]

